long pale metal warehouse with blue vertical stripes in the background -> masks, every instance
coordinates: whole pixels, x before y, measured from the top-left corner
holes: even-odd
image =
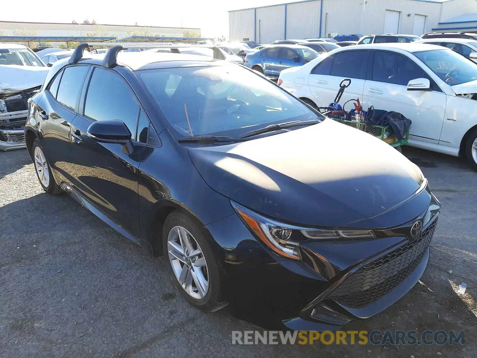
[[[229,11],[229,38],[270,43],[352,33],[420,36],[464,28],[464,15],[477,20],[477,0],[304,0]]]

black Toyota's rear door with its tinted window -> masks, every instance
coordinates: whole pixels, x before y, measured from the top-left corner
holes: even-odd
[[[56,74],[37,103],[41,145],[58,182],[73,182],[70,132],[89,68],[89,65],[65,67]]]

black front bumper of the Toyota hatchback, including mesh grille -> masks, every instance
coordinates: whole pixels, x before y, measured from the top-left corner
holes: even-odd
[[[238,215],[207,225],[223,258],[231,313],[268,329],[333,331],[383,311],[417,283],[427,266],[440,204],[425,190],[406,205],[424,196],[431,202],[417,218],[383,229],[382,237],[304,242],[302,261],[270,252]],[[411,239],[418,219],[424,223],[422,233]]]

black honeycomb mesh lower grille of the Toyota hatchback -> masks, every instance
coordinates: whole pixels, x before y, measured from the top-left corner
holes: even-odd
[[[437,219],[418,239],[364,265],[334,290],[330,298],[351,308],[362,308],[392,291],[421,262],[431,243],[436,224]]]

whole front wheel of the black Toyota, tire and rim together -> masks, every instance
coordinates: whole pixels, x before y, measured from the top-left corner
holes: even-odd
[[[187,237],[187,243],[183,243],[184,234]],[[214,312],[225,307],[228,303],[223,298],[224,275],[196,221],[180,210],[173,211],[164,222],[162,237],[164,258],[168,261],[166,265],[171,279],[187,301],[205,312]],[[192,253],[197,251],[201,253],[197,256],[190,255],[188,249]],[[184,251],[187,253],[186,257],[183,256]],[[196,263],[200,267],[196,267]],[[199,281],[200,285],[197,283]],[[207,282],[207,292],[204,290],[206,287],[204,282]]]

